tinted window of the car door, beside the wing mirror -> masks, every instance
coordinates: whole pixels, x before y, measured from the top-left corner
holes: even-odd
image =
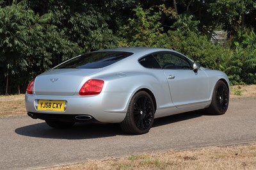
[[[172,52],[154,54],[157,62],[163,69],[191,69],[188,59]]]

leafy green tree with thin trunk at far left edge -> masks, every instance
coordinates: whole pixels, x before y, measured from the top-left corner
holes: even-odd
[[[3,64],[6,77],[6,91],[8,93],[8,81],[10,75],[18,75],[24,72],[28,66],[26,52],[33,39],[35,29],[40,30],[40,19],[47,20],[45,15],[36,20],[35,13],[28,10],[24,4],[15,4],[0,8],[0,61]],[[17,82],[19,86],[19,82]]]

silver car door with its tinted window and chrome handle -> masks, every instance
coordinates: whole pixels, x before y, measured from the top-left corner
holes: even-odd
[[[175,107],[205,104],[209,98],[209,80],[204,70],[192,70],[192,61],[177,52],[159,52],[154,57],[164,70]]]

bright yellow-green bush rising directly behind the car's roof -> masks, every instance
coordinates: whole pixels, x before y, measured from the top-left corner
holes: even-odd
[[[162,12],[154,12],[153,8],[143,10],[137,6],[134,10],[134,18],[128,20],[128,24],[120,28],[118,35],[122,37],[119,46],[143,46],[157,47],[157,43],[163,38],[163,27],[159,20]]]

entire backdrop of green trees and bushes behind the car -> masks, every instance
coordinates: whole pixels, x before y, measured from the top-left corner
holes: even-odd
[[[175,2],[0,0],[0,93],[6,86],[24,92],[29,79],[52,66],[115,46],[178,50],[227,73],[232,84],[255,84],[256,2]],[[210,40],[217,28],[228,33],[229,45]]]

